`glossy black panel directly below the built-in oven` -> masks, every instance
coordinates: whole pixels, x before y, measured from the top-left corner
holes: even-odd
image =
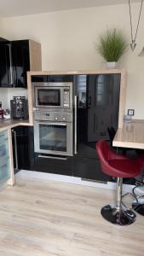
[[[35,154],[35,163],[32,169],[37,172],[72,176],[72,157],[68,157],[66,160],[57,160],[40,157],[40,154]]]

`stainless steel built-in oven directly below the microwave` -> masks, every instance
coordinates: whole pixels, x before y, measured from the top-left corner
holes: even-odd
[[[63,156],[73,155],[72,118],[72,113],[35,111],[35,152]]]

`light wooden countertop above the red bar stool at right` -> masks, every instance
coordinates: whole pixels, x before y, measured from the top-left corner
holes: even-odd
[[[133,120],[118,128],[113,139],[114,147],[144,149],[144,120]]]

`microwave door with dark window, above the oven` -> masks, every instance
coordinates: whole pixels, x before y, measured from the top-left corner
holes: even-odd
[[[35,87],[36,108],[63,108],[61,87]]]

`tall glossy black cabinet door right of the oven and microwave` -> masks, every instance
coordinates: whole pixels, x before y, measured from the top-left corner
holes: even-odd
[[[77,75],[73,80],[78,96],[78,154],[73,158],[73,175],[112,181],[101,172],[95,143],[109,139],[108,126],[118,126],[120,75]]]

